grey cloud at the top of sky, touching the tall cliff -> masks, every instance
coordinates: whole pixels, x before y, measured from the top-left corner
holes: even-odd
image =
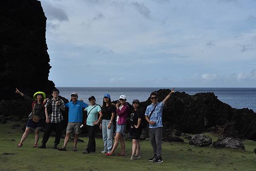
[[[48,20],[68,21],[67,13],[59,8],[52,6],[52,4],[42,1],[44,12]]]

